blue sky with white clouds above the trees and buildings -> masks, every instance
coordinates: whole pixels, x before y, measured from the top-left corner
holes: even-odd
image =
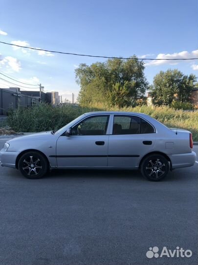
[[[0,41],[104,56],[198,57],[198,0],[0,0]],[[58,91],[70,101],[72,92],[76,100],[80,90],[75,68],[96,61],[105,59],[0,43],[0,73],[42,83],[45,91]],[[159,71],[169,68],[198,76],[198,60],[162,60],[146,61],[146,78],[152,83]],[[0,87],[9,86],[15,85],[0,79]]]

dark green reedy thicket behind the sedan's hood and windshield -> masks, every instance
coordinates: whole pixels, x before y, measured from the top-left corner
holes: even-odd
[[[8,124],[17,132],[42,132],[58,130],[67,123],[91,111],[81,106],[51,106],[48,104],[19,107],[8,112]]]

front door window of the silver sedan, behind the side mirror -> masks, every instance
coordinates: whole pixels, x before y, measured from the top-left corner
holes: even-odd
[[[109,115],[93,116],[71,129],[72,135],[103,135],[107,132]]]

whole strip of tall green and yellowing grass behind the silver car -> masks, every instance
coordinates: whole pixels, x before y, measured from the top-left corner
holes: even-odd
[[[198,141],[198,111],[175,110],[170,107],[136,106],[108,107],[101,104],[84,106],[59,106],[47,104],[35,105],[31,108],[18,108],[9,112],[7,123],[16,132],[42,132],[57,130],[81,114],[94,110],[119,110],[141,112],[152,116],[168,127],[181,128],[193,133],[194,141]]]

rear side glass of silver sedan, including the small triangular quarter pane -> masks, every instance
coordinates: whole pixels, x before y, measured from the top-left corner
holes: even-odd
[[[137,116],[114,115],[113,134],[139,133],[154,133],[154,128]]]

